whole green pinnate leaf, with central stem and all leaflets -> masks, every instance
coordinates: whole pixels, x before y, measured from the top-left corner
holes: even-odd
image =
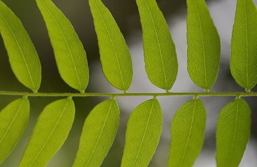
[[[192,96],[171,122],[168,166],[192,166],[204,142],[206,109],[199,96],[234,96],[219,114],[216,128],[217,166],[238,166],[250,136],[251,111],[245,96],[257,83],[257,11],[252,0],[237,0],[231,41],[230,70],[245,92],[210,92],[219,69],[221,43],[204,0],[187,0],[188,72],[203,92],[169,92],[178,70],[175,45],[155,0],[136,0],[143,32],[145,70],[149,80],[165,92],[126,92],[132,83],[130,51],[111,12],[100,0],[89,0],[103,73],[121,93],[86,93],[86,52],[70,21],[50,0],[36,0],[43,15],[60,76],[76,93],[38,92],[41,64],[38,53],[19,18],[0,1],[0,32],[16,78],[32,92],[0,91],[23,96],[0,112],[0,164],[19,142],[29,119],[29,96],[62,96],[47,105],[34,127],[19,166],[46,166],[63,145],[75,117],[72,97],[111,97],[87,116],[73,166],[100,166],[111,148],[119,126],[115,97],[150,96],[139,104],[127,122],[121,166],[148,166],[162,131],[158,96]]]

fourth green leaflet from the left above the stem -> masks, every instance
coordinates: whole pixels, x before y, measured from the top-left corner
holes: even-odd
[[[165,90],[173,86],[178,70],[175,45],[155,0],[137,0],[143,30],[145,69],[150,81]]]

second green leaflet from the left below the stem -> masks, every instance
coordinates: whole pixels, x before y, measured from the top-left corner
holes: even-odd
[[[75,116],[72,99],[47,105],[35,125],[19,166],[46,166],[66,140]]]

